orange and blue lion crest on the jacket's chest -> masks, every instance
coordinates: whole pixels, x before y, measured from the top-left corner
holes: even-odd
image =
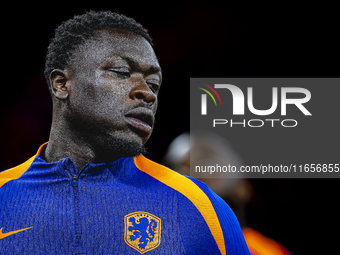
[[[161,243],[161,219],[147,212],[134,212],[124,217],[124,240],[141,254]]]

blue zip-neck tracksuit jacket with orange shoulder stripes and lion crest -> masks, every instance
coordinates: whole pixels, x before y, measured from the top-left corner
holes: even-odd
[[[144,156],[0,172],[0,254],[249,254],[229,206]]]

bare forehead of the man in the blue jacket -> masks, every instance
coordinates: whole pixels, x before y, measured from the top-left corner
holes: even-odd
[[[160,66],[150,43],[140,35],[121,29],[102,29],[74,52],[71,63],[102,64],[113,59],[129,59],[145,68]]]

